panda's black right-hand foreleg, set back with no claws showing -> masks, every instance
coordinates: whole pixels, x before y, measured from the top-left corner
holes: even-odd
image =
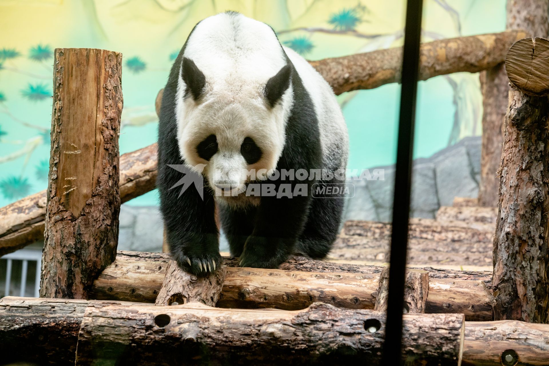
[[[278,268],[301,234],[311,198],[262,197],[253,233],[240,256],[241,267]]]

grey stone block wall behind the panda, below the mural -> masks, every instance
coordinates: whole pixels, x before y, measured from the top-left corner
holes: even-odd
[[[383,181],[355,181],[355,196],[346,205],[345,220],[390,221],[395,166]],[[467,137],[427,159],[416,159],[412,175],[412,216],[434,218],[440,206],[453,198],[477,197],[480,179],[480,137]],[[162,251],[163,223],[156,206],[129,206],[120,210],[119,250]],[[228,251],[224,238],[221,251]]]

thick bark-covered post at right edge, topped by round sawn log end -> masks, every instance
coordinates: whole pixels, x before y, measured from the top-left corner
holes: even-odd
[[[513,44],[494,237],[494,317],[549,320],[549,41]],[[515,89],[516,88],[516,89]]]

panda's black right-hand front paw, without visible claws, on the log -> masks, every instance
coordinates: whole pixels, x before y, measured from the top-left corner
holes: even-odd
[[[288,252],[281,239],[251,235],[240,255],[240,267],[278,268],[287,258]]]

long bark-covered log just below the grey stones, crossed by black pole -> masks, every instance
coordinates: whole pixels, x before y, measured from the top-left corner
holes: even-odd
[[[376,221],[349,220],[345,222],[345,235],[358,235],[371,239],[389,239],[391,224]],[[474,243],[490,243],[494,236],[494,226],[491,224],[476,224],[470,227],[468,223],[440,223],[434,219],[413,219],[408,227],[410,239],[429,239],[440,241],[468,241]]]

